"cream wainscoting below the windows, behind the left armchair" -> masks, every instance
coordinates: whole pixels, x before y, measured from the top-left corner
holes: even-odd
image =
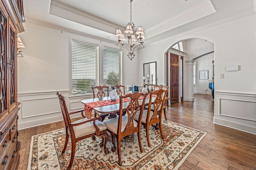
[[[91,96],[70,97],[69,90],[60,91],[60,93],[65,97],[69,111],[83,109],[81,101],[85,98],[91,98]],[[18,94],[18,101],[21,108],[18,112],[19,129],[63,121],[56,91],[23,92]],[[72,115],[72,117],[77,116],[80,116],[80,113]]]

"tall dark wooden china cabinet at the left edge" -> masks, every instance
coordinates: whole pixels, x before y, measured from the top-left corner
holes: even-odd
[[[1,0],[0,16],[0,170],[16,170],[20,161],[17,33],[24,31],[22,0]]]

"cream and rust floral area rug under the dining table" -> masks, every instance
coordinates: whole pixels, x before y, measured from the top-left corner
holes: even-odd
[[[100,137],[84,139],[77,143],[72,170],[177,170],[206,133],[165,120],[162,120],[162,127],[165,139],[161,138],[159,130],[150,127],[151,147],[147,145],[142,127],[143,153],[140,152],[137,133],[133,143],[122,141],[122,166],[118,164],[117,151],[111,152],[111,141],[107,145],[110,153],[105,154],[103,147],[99,146]],[[64,129],[32,136],[28,170],[66,170],[71,142],[62,154],[64,143]]]

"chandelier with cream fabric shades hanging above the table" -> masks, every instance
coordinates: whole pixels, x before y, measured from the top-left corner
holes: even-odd
[[[124,37],[124,34],[122,34],[120,29],[116,30],[116,37],[118,37],[118,43],[116,44],[118,47],[120,47],[121,50],[126,49],[128,51],[128,57],[130,60],[132,60],[135,56],[134,50],[143,48],[143,40],[144,37],[144,31],[142,26],[139,26],[135,34],[137,35],[138,40],[135,37],[134,34],[134,23],[132,22],[132,1],[130,2],[130,22],[126,25],[126,29],[124,30],[124,33],[126,33],[126,37]]]

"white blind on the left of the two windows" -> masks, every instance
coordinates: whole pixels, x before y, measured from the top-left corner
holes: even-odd
[[[98,84],[98,45],[71,41],[72,95],[92,94]]]

